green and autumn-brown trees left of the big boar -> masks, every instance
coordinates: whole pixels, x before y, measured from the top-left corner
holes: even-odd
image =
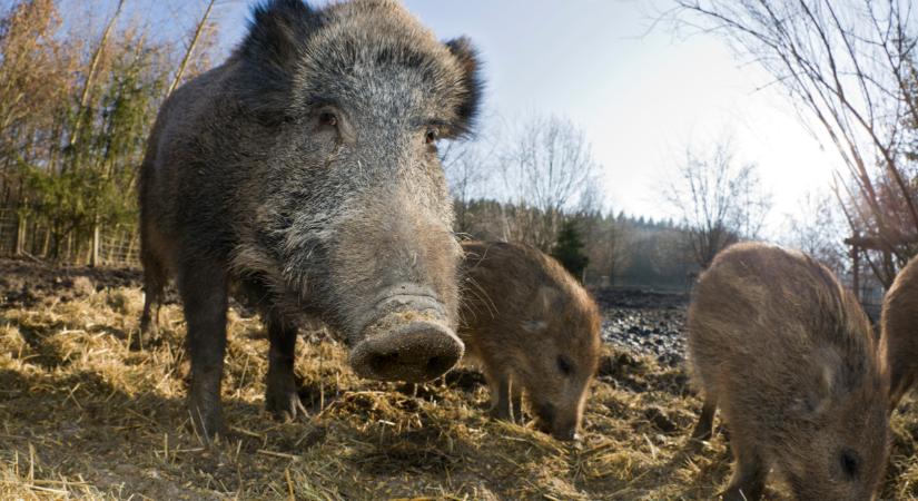
[[[53,0],[17,3],[0,28],[13,21],[49,26],[57,8]],[[40,81],[20,79],[23,89],[9,98],[0,86],[0,115],[23,117],[8,120],[14,127],[0,127],[0,208],[47,229],[47,236],[30,240],[38,247],[27,252],[82,259],[97,228],[131,232],[136,226],[138,167],[165,97],[174,48],[125,27],[101,46],[93,65],[95,50],[80,50],[68,32],[33,31],[37,45],[0,37],[0,75],[34,72],[31,60],[40,61],[45,75]],[[91,42],[95,49],[92,43],[101,41]],[[11,66],[12,55],[26,55],[17,59],[26,62]],[[39,84],[48,87],[41,91],[46,98],[20,110],[16,96],[29,95]]]

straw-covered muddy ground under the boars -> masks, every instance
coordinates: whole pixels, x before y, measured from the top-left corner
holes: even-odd
[[[234,310],[224,384],[229,436],[188,425],[185,324],[137,340],[138,271],[0,261],[0,499],[711,499],[724,439],[688,441],[700,403],[683,369],[684,295],[596,292],[608,341],[574,446],[495,422],[472,367],[417,387],[362,381],[328,333],[304,333],[308,418],[263,410],[267,341]],[[884,499],[918,495],[918,409],[894,418]],[[769,499],[786,499],[778,482]]]

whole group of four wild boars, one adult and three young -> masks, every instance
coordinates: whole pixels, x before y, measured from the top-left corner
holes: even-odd
[[[304,412],[297,325],[342,333],[364,377],[434,380],[466,355],[494,416],[578,438],[600,352],[600,314],[551,257],[460,243],[436,145],[473,130],[482,94],[465,38],[437,41],[393,0],[312,8],[270,0],[220,66],[162,105],[141,167],[140,228],[150,335],[176,279],[187,318],[193,424],[223,431],[226,311],[255,305],[270,348],[266,406]],[[825,266],[739,244],[700,277],[690,370],[730,431],[725,499],[762,495],[770,471],[799,499],[870,499],[889,413],[918,372],[918,265],[890,289],[881,337]],[[890,383],[891,375],[891,383]],[[891,391],[891,393],[890,393]]]

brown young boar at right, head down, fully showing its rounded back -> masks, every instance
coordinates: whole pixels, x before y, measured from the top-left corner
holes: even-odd
[[[870,324],[828,268],[739,244],[704,272],[689,307],[689,360],[736,465],[727,500],[758,499],[772,468],[797,499],[868,500],[886,468],[888,375]]]

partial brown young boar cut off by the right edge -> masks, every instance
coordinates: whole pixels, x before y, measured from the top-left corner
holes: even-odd
[[[896,276],[882,302],[880,354],[889,367],[889,409],[918,377],[918,257]]]

